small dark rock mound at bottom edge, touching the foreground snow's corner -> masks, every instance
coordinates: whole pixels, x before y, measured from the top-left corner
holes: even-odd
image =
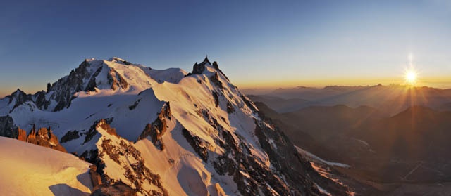
[[[94,190],[92,196],[135,196],[136,190],[133,190],[130,186],[119,181],[113,185],[100,185],[97,190]]]

